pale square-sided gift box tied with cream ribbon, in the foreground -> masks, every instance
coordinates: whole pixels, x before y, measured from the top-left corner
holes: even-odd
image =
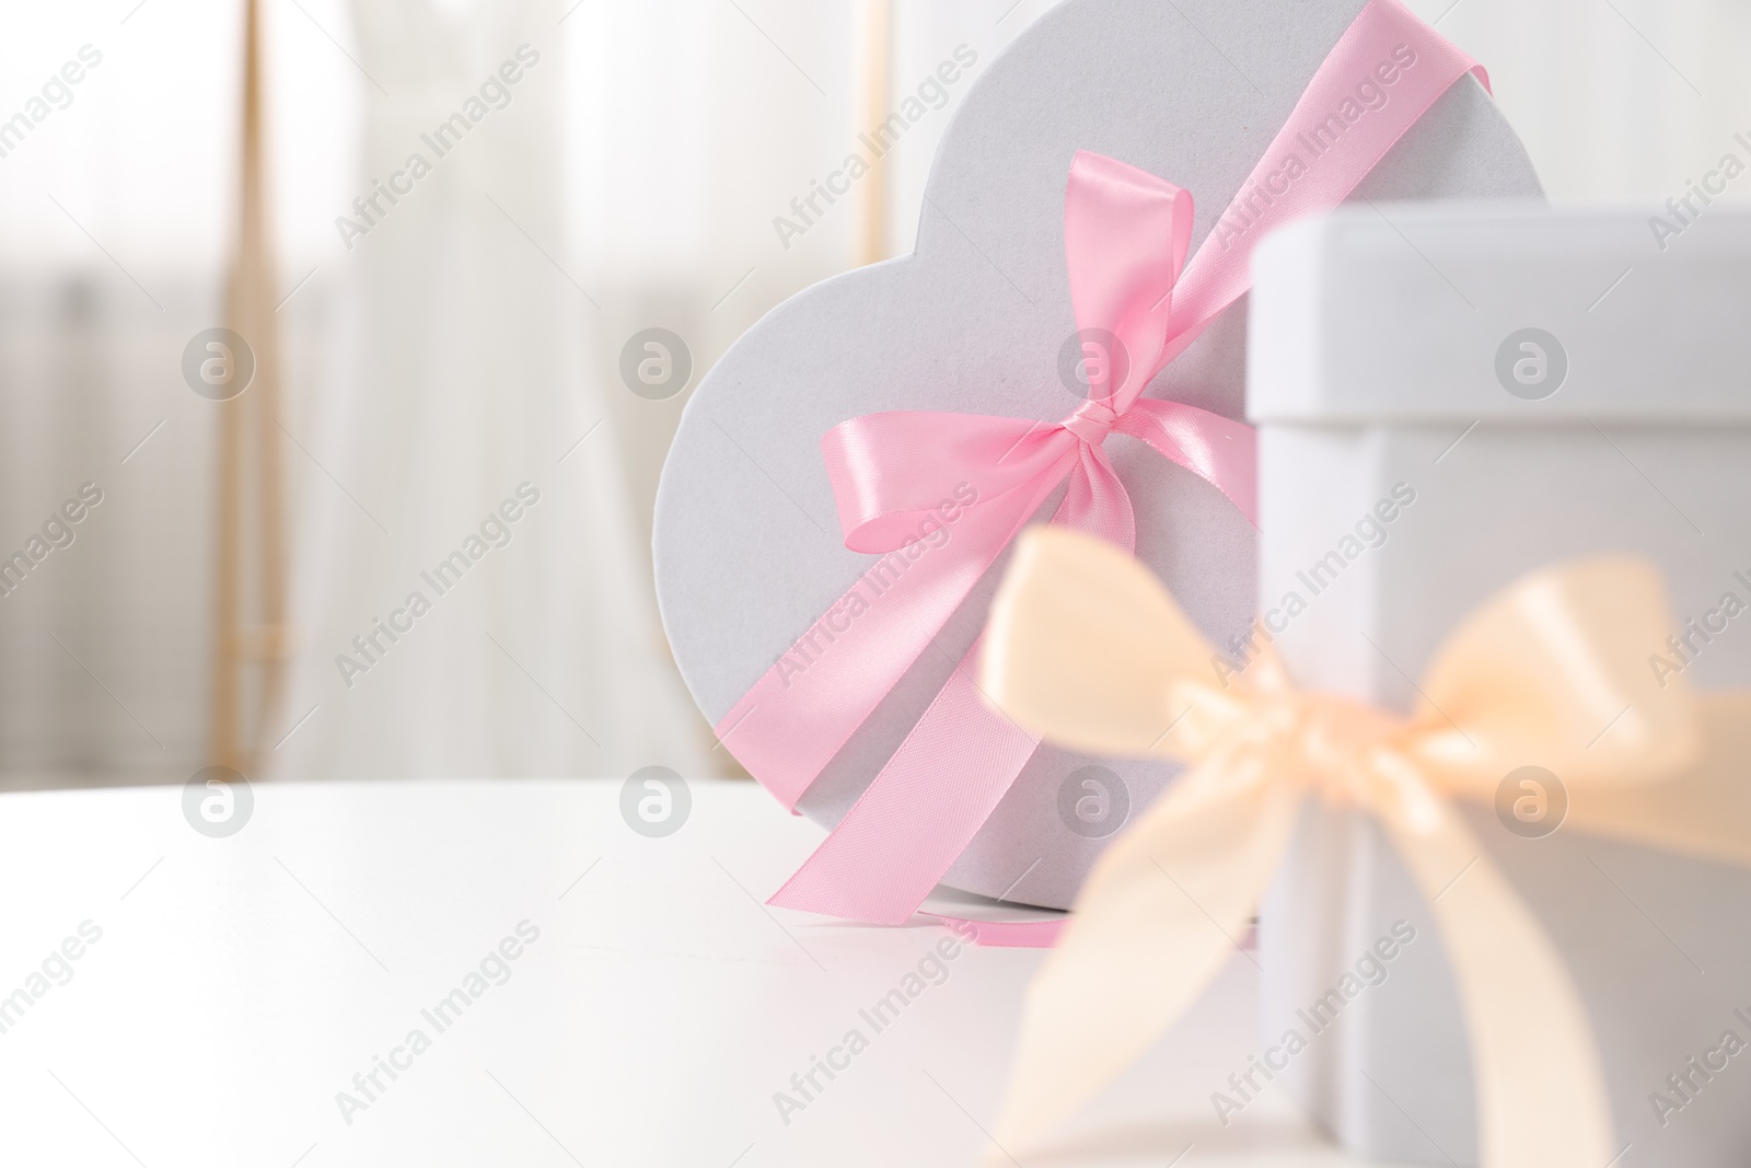
[[[1663,567],[1683,622],[1649,669],[1751,683],[1747,320],[1751,215],[1700,200],[1679,217],[1382,203],[1268,240],[1247,391],[1259,604],[1296,681],[1408,713],[1439,641],[1492,592],[1628,552]],[[1725,1033],[1751,1042],[1751,874],[1466,814],[1588,1007],[1620,1163],[1744,1164],[1751,1056]],[[1306,1035],[1306,1007],[1401,919],[1417,940],[1390,975],[1313,1019],[1280,1079],[1355,1150],[1469,1164],[1439,933],[1354,813],[1308,813],[1261,912],[1264,1035]]]

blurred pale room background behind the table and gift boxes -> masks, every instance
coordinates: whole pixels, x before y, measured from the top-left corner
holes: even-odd
[[[5,5],[0,788],[732,774],[651,599],[672,427],[763,312],[911,250],[968,86],[776,217],[1049,7]],[[1742,0],[1411,7],[1553,201],[1663,203],[1751,137]],[[674,396],[622,375],[651,327]]]

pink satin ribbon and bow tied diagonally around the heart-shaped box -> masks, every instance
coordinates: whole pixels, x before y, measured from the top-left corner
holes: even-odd
[[[784,807],[797,806],[1066,478],[1052,522],[1135,548],[1131,501],[1103,450],[1108,434],[1147,443],[1255,518],[1252,429],[1140,394],[1247,291],[1252,249],[1268,231],[1341,203],[1467,72],[1488,84],[1399,0],[1373,0],[1191,263],[1187,191],[1077,152],[1065,193],[1070,298],[1084,336],[1117,338],[1128,357],[1122,383],[1112,383],[1112,362],[1091,362],[1089,401],[1056,424],[895,412],[851,419],[821,440],[846,546],[881,559],[716,727]],[[986,707],[977,653],[974,644],[770,904],[888,925],[912,916],[1038,746]],[[1056,921],[1047,925],[1037,932],[1044,944],[1056,933]],[[1002,932],[1010,944],[1021,935]]]

